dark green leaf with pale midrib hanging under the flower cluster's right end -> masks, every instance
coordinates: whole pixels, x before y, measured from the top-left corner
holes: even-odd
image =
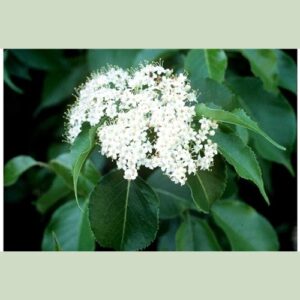
[[[221,198],[225,190],[226,177],[226,165],[220,156],[214,159],[211,171],[199,170],[188,176],[187,183],[198,209],[209,212],[211,205]]]

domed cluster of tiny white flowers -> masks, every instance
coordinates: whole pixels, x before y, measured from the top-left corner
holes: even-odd
[[[216,122],[195,121],[196,93],[186,75],[161,65],[125,71],[110,67],[94,74],[68,112],[72,143],[84,122],[98,125],[101,153],[116,160],[124,178],[133,180],[141,166],[156,167],[175,183],[208,170],[217,154]],[[99,125],[100,124],[100,125]]]

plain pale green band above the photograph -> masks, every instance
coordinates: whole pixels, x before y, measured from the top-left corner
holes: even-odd
[[[295,0],[1,1],[2,48],[297,48]]]

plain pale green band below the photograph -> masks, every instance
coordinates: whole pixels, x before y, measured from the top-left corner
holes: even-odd
[[[2,253],[0,298],[299,299],[299,264],[298,253]]]

